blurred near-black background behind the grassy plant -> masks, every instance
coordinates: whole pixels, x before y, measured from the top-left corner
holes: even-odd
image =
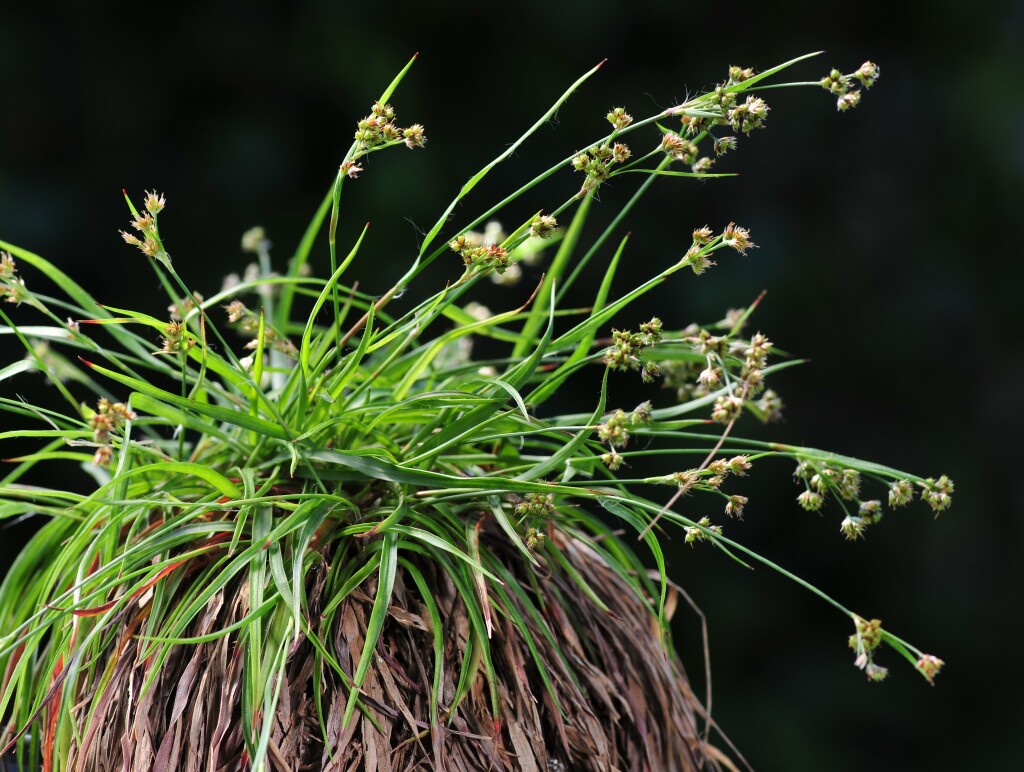
[[[677,260],[693,227],[751,228],[760,249],[722,256],[699,278],[677,276],[623,324],[651,309],[670,326],[708,321],[768,289],[756,326],[812,359],[774,379],[787,410],[771,435],[955,480],[954,506],[937,521],[919,505],[849,544],[841,515],[800,510],[792,469],[765,463],[745,520],[727,523],[732,538],[882,617],[947,669],[931,689],[890,652],[889,682],[868,685],[846,648],[851,626],[783,577],[691,550],[681,534],[669,545],[671,571],[709,618],[714,715],[755,768],[984,769],[1020,757],[1024,495],[1006,449],[1024,430],[1019,3],[979,2],[968,14],[952,3],[745,13],[604,0],[357,11],[265,2],[150,17],[47,5],[0,11],[0,238],[47,256],[100,302],[154,313],[163,312],[154,274],[117,234],[128,221],[121,188],[166,191],[162,230],[200,292],[244,269],[239,239],[257,223],[284,264],[355,120],[414,51],[420,60],[393,101],[400,121],[427,127],[427,149],[372,157],[345,191],[339,243],[373,222],[352,269],[371,292],[390,286],[462,182],[605,56],[455,225],[603,134],[614,104],[644,116],[721,80],[730,63],[764,69],[819,48],[827,54],[794,79],[878,61],[882,81],[848,115],[824,92],[768,92],[767,130],[723,162],[739,178],[655,183],[624,228],[630,271],[616,289]],[[639,134],[630,142],[643,146]],[[578,184],[566,170],[516,216]],[[592,232],[632,189],[602,190]],[[323,271],[324,245],[319,260]],[[421,286],[456,270],[439,261]],[[582,283],[581,305],[599,281]],[[486,302],[513,307],[523,293],[495,289]],[[4,341],[4,361],[10,350]],[[668,398],[635,381],[615,379],[612,403]],[[565,398],[589,406],[594,395]],[[701,506],[695,498],[689,509]],[[3,531],[5,548],[30,529]],[[679,618],[700,694],[699,630]]]

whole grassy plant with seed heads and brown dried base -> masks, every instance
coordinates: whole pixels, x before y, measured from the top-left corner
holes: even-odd
[[[892,508],[920,491],[944,510],[948,478],[736,436],[744,415],[778,416],[766,382],[797,363],[751,332],[757,301],[702,326],[654,316],[609,329],[673,274],[700,275],[755,248],[735,223],[698,226],[657,275],[613,292],[629,240],[612,235],[630,210],[657,177],[724,176],[710,170],[768,118],[767,80],[799,60],[730,68],[714,90],[644,120],[614,108],[609,133],[452,228],[460,202],[595,68],[462,186],[380,297],[346,282],[372,237],[339,252],[335,234],[343,187],[366,159],[426,143],[390,105],[409,66],[358,122],[283,274],[254,229],[243,239],[257,259],[251,275],[202,297],[167,252],[157,192],[140,208],[126,195],[122,232],[156,270],[167,317],[100,305],[54,264],[0,242],[0,291],[39,323],[0,311],[27,351],[0,380],[40,373],[67,402],[0,399],[36,426],[0,437],[41,442],[9,460],[0,516],[44,521],[0,588],[7,749],[46,769],[700,767],[721,752],[672,652],[663,528],[768,565],[831,604],[854,628],[868,679],[885,678],[876,655],[887,645],[932,681],[941,660],[729,539],[723,523],[746,505],[733,478],[774,459],[796,463],[804,509],[835,503],[848,539],[881,519],[886,491]],[[866,62],[811,85],[848,110],[877,78]],[[551,205],[539,185],[561,173],[579,176],[579,192]],[[588,234],[601,185],[629,174],[632,197]],[[487,226],[520,199],[537,213],[508,233]],[[316,278],[308,266],[325,224],[330,273]],[[492,313],[470,300],[481,281],[514,276],[545,250],[527,303]],[[437,260],[461,273],[409,302],[407,288]],[[601,260],[592,304],[565,308]],[[474,357],[481,338],[504,353]],[[583,412],[546,410],[595,370],[603,377]],[[612,394],[631,374],[670,390],[626,410]],[[662,473],[629,476],[631,460],[653,454]],[[94,489],[19,482],[69,461],[90,470]],[[697,495],[721,515],[677,507]]]

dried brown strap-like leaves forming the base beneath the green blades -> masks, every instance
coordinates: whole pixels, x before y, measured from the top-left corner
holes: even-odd
[[[540,618],[514,593],[506,602],[519,606],[517,615],[527,620],[550,691],[525,637],[503,612],[502,602],[492,597],[498,721],[482,669],[466,698],[452,710],[471,627],[452,581],[421,561],[444,629],[440,721],[432,731],[430,617],[399,566],[390,613],[362,687],[366,710],[356,711],[347,727],[342,725],[349,689],[331,668],[315,666],[312,644],[300,637],[290,652],[273,717],[268,769],[717,768],[719,755],[709,753],[697,728],[699,702],[678,660],[663,650],[649,611],[593,551],[564,534],[554,538],[612,613],[590,601],[563,572],[531,568],[513,548],[502,547],[504,540],[484,535],[493,552],[507,556],[505,564],[524,585],[532,582],[539,589],[540,600],[535,595],[534,604],[541,609]],[[341,559],[337,552],[335,556]],[[326,576],[327,561],[307,575],[313,629],[324,607]],[[232,592],[214,597],[188,635],[205,635],[243,618],[250,610],[247,588],[245,582],[237,583]],[[369,580],[342,603],[330,629],[318,630],[346,674],[354,671],[362,650],[375,590]],[[226,772],[251,767],[242,730],[245,657],[237,635],[174,646],[144,693],[154,658],[139,660],[145,644],[138,639],[123,636],[122,641],[91,720],[86,707],[91,700],[84,699],[89,694],[82,687],[80,721],[87,725],[73,746],[69,769]],[[97,672],[102,670],[100,664]],[[314,693],[321,696],[323,726]]]

